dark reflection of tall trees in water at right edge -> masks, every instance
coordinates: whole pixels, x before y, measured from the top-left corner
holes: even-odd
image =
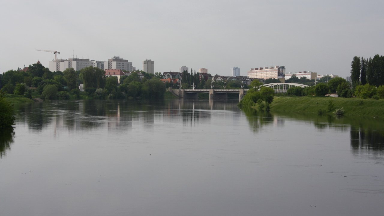
[[[354,153],[361,153],[361,151],[375,151],[376,153],[383,153],[384,133],[383,131],[369,130],[352,126],[351,146]]]

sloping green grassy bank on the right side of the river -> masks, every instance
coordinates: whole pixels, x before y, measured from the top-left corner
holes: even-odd
[[[328,111],[329,101],[332,101],[332,109]],[[366,116],[384,118],[384,100],[372,100],[361,98],[328,98],[328,97],[275,97],[270,104],[270,110],[277,113],[305,113],[318,115],[323,113],[333,114],[333,111],[343,108],[345,116]]]

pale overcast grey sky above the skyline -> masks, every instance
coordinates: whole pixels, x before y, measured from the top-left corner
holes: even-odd
[[[156,72],[205,67],[240,75],[350,74],[353,56],[384,55],[383,0],[0,0],[0,72],[37,60],[120,56]]]

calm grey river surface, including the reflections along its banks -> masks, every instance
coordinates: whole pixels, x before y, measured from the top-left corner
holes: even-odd
[[[384,123],[237,101],[50,101],[0,139],[0,215],[383,215]]]

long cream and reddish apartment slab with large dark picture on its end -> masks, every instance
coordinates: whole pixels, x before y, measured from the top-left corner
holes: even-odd
[[[251,70],[247,71],[247,74],[249,78],[275,78],[279,79],[281,82],[285,82],[285,66],[271,66],[269,68],[251,68]]]

